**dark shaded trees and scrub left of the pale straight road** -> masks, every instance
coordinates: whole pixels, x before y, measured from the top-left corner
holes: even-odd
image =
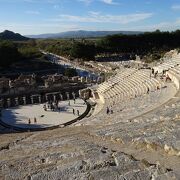
[[[0,57],[0,68],[10,72],[57,68],[40,53],[34,41],[0,41]]]

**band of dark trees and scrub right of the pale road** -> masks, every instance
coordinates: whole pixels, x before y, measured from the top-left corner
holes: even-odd
[[[137,35],[110,35],[97,40],[40,40],[40,48],[70,58],[94,60],[97,54],[129,53],[141,56],[151,55],[154,60],[159,53],[180,46],[180,31],[146,32]],[[153,60],[153,59],[152,59]]]

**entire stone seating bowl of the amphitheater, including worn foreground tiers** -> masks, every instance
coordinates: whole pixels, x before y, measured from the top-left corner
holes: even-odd
[[[86,118],[43,132],[0,127],[0,179],[180,179],[180,54],[121,68]],[[109,112],[107,113],[107,108]]]

